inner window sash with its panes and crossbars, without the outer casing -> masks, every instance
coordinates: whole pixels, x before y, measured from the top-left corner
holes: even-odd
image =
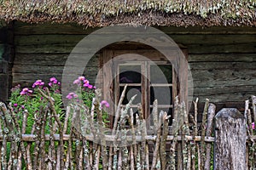
[[[137,94],[131,108],[137,111],[137,104],[143,105],[145,117],[148,117],[153,108],[154,99],[158,99],[159,111],[166,111],[172,115],[173,69],[172,64],[166,61],[121,61],[115,63],[118,76],[115,80],[116,105],[127,84],[122,107],[128,104],[131,97]]]

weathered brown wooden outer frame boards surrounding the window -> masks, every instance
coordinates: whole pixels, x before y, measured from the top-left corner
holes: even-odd
[[[163,61],[170,61],[172,63],[172,103],[174,103],[174,98],[178,95],[179,99],[185,101],[186,105],[188,105],[188,64],[187,64],[187,53],[183,50],[183,54],[180,54],[179,51],[173,50],[170,52],[168,50],[168,59],[163,54],[160,54],[155,49],[136,49],[136,50],[117,50],[117,49],[106,49],[103,50],[102,53],[102,62],[103,62],[103,98],[104,99],[114,99],[115,105],[118,102],[119,92],[115,91],[117,89],[117,82],[113,85],[113,72],[116,71],[117,67],[113,62],[113,58],[117,56],[119,57],[119,62],[145,62],[144,60],[138,59],[137,55],[141,55],[147,57],[148,59],[152,60],[153,62],[163,62]],[[186,56],[186,59],[183,59],[181,55]],[[177,66],[179,65],[179,66]],[[148,67],[149,68],[149,67]],[[148,70],[148,68],[144,68]],[[178,69],[174,69],[178,68]],[[142,82],[143,83],[143,82]],[[148,86],[144,87],[148,88]],[[149,90],[142,90],[142,93],[148,92]],[[148,94],[142,94],[143,96],[149,96]],[[145,102],[142,102],[143,105],[143,113],[144,117],[147,117],[150,113],[149,99],[144,99]],[[145,109],[148,109],[146,111]],[[114,113],[116,108],[112,105],[108,111]],[[110,125],[113,124],[113,117],[110,117]]]

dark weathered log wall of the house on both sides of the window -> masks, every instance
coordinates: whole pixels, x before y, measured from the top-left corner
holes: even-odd
[[[208,98],[221,107],[243,106],[256,94],[256,31],[239,28],[162,27],[172,39],[187,48],[194,81],[194,96]],[[38,78],[61,79],[73,47],[93,29],[71,24],[28,25],[15,23],[13,85],[31,85]],[[101,52],[90,60],[84,75],[93,80]]]

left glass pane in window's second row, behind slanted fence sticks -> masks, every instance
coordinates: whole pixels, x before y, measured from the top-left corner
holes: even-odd
[[[125,87],[119,87],[119,98]],[[125,91],[125,98],[122,102],[123,105],[128,104],[131,97],[137,94],[136,98],[133,100],[132,105],[137,105],[142,102],[142,88],[137,86],[128,86]]]

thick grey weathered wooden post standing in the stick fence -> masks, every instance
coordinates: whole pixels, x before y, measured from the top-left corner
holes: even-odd
[[[234,108],[224,108],[215,116],[215,170],[245,170],[246,119]]]

